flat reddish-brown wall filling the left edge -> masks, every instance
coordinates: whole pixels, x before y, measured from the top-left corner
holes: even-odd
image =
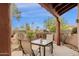
[[[10,55],[10,19],[8,3],[0,3],[0,56]]]

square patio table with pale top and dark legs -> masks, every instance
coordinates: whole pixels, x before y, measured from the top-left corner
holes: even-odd
[[[52,49],[51,49],[51,53],[53,53],[53,41],[51,40],[46,40],[46,39],[36,39],[36,40],[33,40],[31,41],[32,44],[34,45],[38,45],[40,46],[39,48],[39,51],[40,51],[40,55],[41,55],[41,46],[44,47],[44,50],[43,50],[43,55],[45,56],[45,47],[48,46],[49,44],[51,44],[52,46]]]

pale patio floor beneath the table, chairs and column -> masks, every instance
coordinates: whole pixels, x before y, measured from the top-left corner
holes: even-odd
[[[37,46],[33,46],[34,49],[36,47]],[[43,55],[43,50],[41,52]],[[14,52],[12,52],[11,55],[12,56],[22,56],[23,53],[22,53],[22,51],[14,51]],[[63,45],[57,46],[56,44],[53,44],[53,54],[51,54],[50,48],[46,47],[46,56],[79,56],[79,53],[66,46],[63,46]]]

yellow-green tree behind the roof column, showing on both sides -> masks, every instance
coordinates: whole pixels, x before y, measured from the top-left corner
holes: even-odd
[[[51,32],[55,32],[56,31],[56,19],[55,18],[49,18],[48,20],[44,21],[44,25],[47,29],[49,29]],[[64,19],[60,19],[60,24],[61,24],[61,30],[65,31],[68,30],[70,28],[69,25],[67,25],[67,22],[65,22]]]

